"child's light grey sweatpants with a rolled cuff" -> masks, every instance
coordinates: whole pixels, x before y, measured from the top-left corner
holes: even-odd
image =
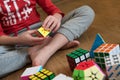
[[[94,11],[89,6],[77,8],[63,18],[61,28],[58,32],[63,34],[69,41],[79,38],[93,22],[94,15]],[[40,25],[41,23],[36,23],[31,25],[30,28],[35,29]],[[27,48],[0,46],[0,77],[22,68],[27,63],[30,63]]]

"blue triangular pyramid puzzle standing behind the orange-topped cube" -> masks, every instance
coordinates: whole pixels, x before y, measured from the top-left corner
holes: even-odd
[[[96,38],[95,38],[94,43],[92,45],[92,48],[90,50],[90,57],[91,58],[94,58],[94,52],[93,51],[103,43],[105,43],[105,41],[103,40],[102,36],[98,33],[96,35]]]

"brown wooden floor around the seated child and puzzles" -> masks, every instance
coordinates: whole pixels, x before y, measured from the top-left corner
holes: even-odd
[[[120,0],[56,0],[55,4],[65,13],[80,7],[82,5],[91,6],[95,13],[95,20],[90,28],[79,38],[80,45],[76,48],[61,50],[56,52],[47,65],[44,67],[53,71],[55,74],[63,73],[72,75],[67,63],[66,54],[77,48],[90,50],[96,33],[100,33],[107,43],[120,43]],[[41,12],[41,9],[38,9]],[[42,19],[45,18],[44,12],[41,12]],[[27,65],[29,67],[31,65]],[[20,75],[25,70],[11,73],[0,80],[19,80]]]

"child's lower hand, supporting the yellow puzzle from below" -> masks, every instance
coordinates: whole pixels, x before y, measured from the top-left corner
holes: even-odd
[[[29,30],[18,35],[18,42],[22,45],[39,45],[46,39],[44,37],[34,37],[36,30]]]

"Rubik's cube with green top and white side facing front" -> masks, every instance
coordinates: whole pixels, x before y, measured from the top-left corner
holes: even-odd
[[[90,59],[89,51],[81,49],[81,48],[78,48],[77,50],[72,51],[71,53],[67,54],[66,56],[67,56],[69,66],[72,71],[77,66],[77,64]]]

